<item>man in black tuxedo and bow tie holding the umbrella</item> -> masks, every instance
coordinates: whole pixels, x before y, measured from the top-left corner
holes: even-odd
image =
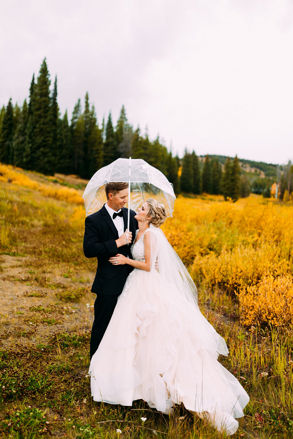
[[[85,218],[84,227],[84,256],[98,259],[97,273],[91,289],[97,298],[90,339],[90,358],[103,339],[117,298],[132,270],[128,264],[116,267],[109,262],[109,258],[120,253],[132,259],[130,247],[138,229],[134,218],[136,213],[130,210],[129,232],[126,234],[127,209],[124,205],[127,203],[128,183],[107,183],[105,192],[107,202],[98,212]]]

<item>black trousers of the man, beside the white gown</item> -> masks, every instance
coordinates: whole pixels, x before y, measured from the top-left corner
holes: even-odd
[[[90,337],[90,359],[96,352],[101,343],[109,321],[111,320],[115,306],[117,304],[117,296],[108,296],[98,294],[94,304],[95,318],[92,326]]]

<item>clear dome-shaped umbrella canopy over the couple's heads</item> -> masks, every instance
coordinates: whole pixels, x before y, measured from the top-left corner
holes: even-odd
[[[167,216],[172,216],[176,199],[173,185],[161,171],[142,159],[118,159],[99,169],[84,191],[86,215],[103,207],[107,200],[105,184],[113,181],[130,182],[128,208],[136,211],[148,198],[154,198],[165,205]]]

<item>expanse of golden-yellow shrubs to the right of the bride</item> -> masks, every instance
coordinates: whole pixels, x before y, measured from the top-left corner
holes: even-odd
[[[254,195],[236,203],[216,196],[179,197],[173,219],[163,229],[197,286],[236,293],[244,324],[292,321],[290,204]],[[273,311],[270,301],[275,303]],[[253,314],[256,302],[258,311]]]

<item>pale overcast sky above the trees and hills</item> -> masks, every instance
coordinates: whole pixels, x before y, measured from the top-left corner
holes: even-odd
[[[44,57],[69,119],[88,91],[179,156],[293,159],[293,0],[1,0],[1,106]]]

